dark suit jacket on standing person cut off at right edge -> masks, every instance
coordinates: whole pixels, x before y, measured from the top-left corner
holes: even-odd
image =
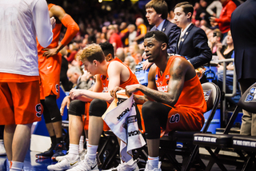
[[[234,10],[230,30],[238,80],[256,79],[256,0],[247,0]]]

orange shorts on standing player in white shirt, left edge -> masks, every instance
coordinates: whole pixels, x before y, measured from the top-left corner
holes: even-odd
[[[0,82],[0,125],[41,121],[39,82]]]

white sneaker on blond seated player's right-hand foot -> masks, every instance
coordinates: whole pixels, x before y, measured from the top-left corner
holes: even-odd
[[[90,159],[87,156],[85,156],[85,158],[82,161],[80,161],[80,163],[77,166],[75,166],[72,169],[68,169],[67,171],[90,171],[90,170],[99,171],[97,160],[95,158],[94,162],[92,163]]]

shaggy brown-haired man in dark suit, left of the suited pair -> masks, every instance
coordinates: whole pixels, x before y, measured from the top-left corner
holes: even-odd
[[[151,0],[146,4],[146,18],[150,25],[153,25],[150,31],[159,30],[168,37],[168,54],[174,54],[176,41],[180,29],[174,23],[167,20],[168,6],[163,0]]]

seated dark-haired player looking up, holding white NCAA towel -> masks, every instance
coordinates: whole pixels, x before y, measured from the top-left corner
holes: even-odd
[[[148,75],[148,85],[127,85],[127,93],[135,95],[137,103],[144,103],[142,116],[146,129],[149,160],[145,170],[161,170],[159,162],[159,138],[171,130],[200,130],[206,112],[202,86],[194,67],[180,56],[167,54],[168,38],[160,31],[145,35],[146,58],[154,62]],[[117,90],[117,89],[114,89]],[[114,91],[111,92],[114,96]]]

